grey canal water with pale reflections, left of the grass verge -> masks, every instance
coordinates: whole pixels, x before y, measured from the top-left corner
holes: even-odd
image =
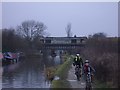
[[[60,56],[31,57],[3,67],[2,88],[49,88],[44,66],[60,64]]]

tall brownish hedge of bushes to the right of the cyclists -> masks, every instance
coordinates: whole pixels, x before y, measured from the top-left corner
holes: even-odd
[[[85,49],[82,51],[83,57],[89,59],[95,68],[95,77],[102,83],[110,87],[118,87],[118,38],[106,37],[104,33],[91,35]]]

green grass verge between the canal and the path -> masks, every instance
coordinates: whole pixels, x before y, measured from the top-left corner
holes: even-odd
[[[55,72],[55,76],[60,77],[60,79],[53,80],[51,88],[57,89],[57,88],[71,87],[69,82],[66,80],[71,64],[72,64],[72,57],[66,58],[65,62],[59,66],[59,68]]]

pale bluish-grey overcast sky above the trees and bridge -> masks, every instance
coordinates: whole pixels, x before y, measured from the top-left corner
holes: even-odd
[[[118,36],[118,3],[2,3],[3,28],[15,28],[25,20],[43,22],[51,36],[66,36],[65,28],[69,22],[73,35],[105,32],[108,36]]]

